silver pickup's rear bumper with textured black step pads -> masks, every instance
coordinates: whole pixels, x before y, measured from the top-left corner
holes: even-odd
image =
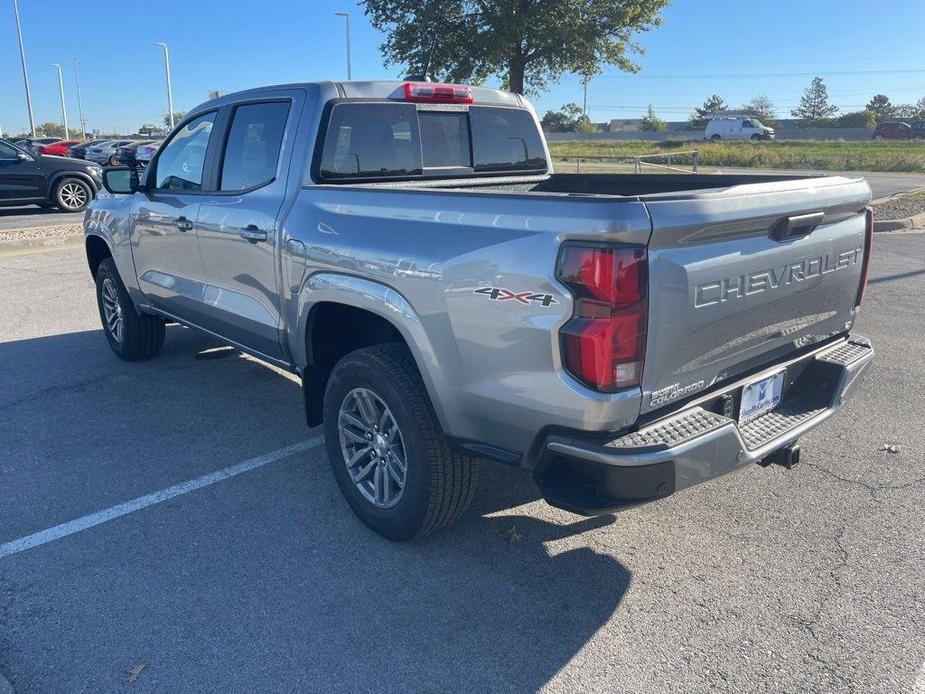
[[[611,441],[550,436],[534,474],[553,506],[585,515],[637,506],[719,477],[774,451],[831,417],[874,357],[853,336],[782,362]],[[781,405],[737,421],[743,386],[786,370]]]

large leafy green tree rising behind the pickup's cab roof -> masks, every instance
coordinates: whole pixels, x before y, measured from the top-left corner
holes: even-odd
[[[661,24],[669,0],[363,0],[388,64],[450,82],[499,76],[511,91],[540,91],[605,64],[627,72],[635,34]]]

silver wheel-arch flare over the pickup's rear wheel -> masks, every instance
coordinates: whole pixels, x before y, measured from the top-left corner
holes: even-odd
[[[323,302],[363,309],[395,326],[411,350],[437,419],[446,430],[446,415],[437,397],[438,393],[445,392],[446,384],[437,352],[421,317],[402,294],[388,285],[336,272],[320,272],[309,277],[298,294],[295,329],[288,334],[290,354],[299,370],[308,365],[305,334],[309,317],[312,309]]]

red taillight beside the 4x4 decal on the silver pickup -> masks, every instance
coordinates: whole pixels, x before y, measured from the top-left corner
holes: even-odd
[[[560,330],[566,370],[595,390],[639,385],[648,320],[646,249],[568,244],[556,276],[575,297]]]

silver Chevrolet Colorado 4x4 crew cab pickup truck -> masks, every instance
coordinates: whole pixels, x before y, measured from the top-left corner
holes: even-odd
[[[86,252],[113,351],[177,322],[301,376],[391,539],[457,518],[479,460],[588,515],[789,468],[873,357],[863,179],[555,174],[516,94],[244,91],[104,181]]]

